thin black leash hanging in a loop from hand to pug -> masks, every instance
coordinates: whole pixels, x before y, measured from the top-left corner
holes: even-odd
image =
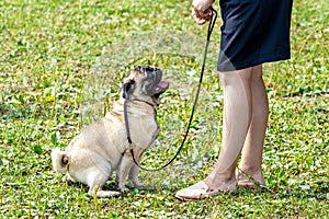
[[[144,171],[160,171],[160,170],[163,170],[164,168],[167,168],[168,165],[170,165],[174,161],[174,159],[179,155],[179,153],[181,152],[181,150],[182,150],[182,148],[185,143],[185,140],[188,138],[190,127],[191,127],[191,124],[192,124],[192,120],[193,120],[193,115],[194,115],[194,112],[195,112],[195,108],[196,108],[196,103],[197,103],[197,100],[198,100],[198,95],[200,95],[200,90],[201,90],[201,85],[202,85],[202,80],[203,80],[203,74],[204,74],[204,69],[205,69],[205,64],[206,64],[206,58],[207,58],[208,46],[209,46],[209,42],[211,42],[211,35],[212,35],[212,32],[213,32],[213,28],[215,26],[216,19],[217,19],[217,11],[212,8],[212,12],[213,12],[213,15],[212,15],[212,18],[209,20],[209,24],[208,24],[207,38],[206,38],[206,44],[205,44],[205,50],[204,50],[204,56],[203,56],[203,64],[202,64],[200,80],[198,80],[198,84],[197,84],[197,91],[196,91],[196,94],[195,94],[195,100],[194,100],[194,103],[193,103],[193,108],[192,108],[192,112],[191,112],[190,122],[189,122],[183,141],[182,141],[179,150],[174,154],[174,157],[167,164],[164,164],[164,165],[162,165],[161,168],[158,168],[158,169],[146,169],[146,168],[140,166],[140,164],[135,159],[133,148],[131,148],[131,153],[132,153],[132,157],[133,157],[133,160],[134,160],[135,164]],[[126,101],[124,102],[124,118],[125,118],[125,125],[126,125],[127,140],[128,140],[129,145],[132,145],[133,141],[132,141],[129,125],[128,125],[128,115],[127,115]]]

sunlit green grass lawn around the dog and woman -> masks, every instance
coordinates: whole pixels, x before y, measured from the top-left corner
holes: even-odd
[[[159,107],[159,141],[144,162],[166,162],[189,118],[206,26],[194,24],[189,1],[2,0],[0,215],[328,218],[328,11],[326,0],[296,0],[292,59],[264,67],[271,110],[263,158],[268,189],[239,188],[232,195],[179,203],[175,191],[203,178],[219,150],[223,102],[215,62],[220,21],[212,36],[200,107],[179,160],[158,173],[141,172],[151,191],[132,188],[118,198],[93,199],[84,186],[60,182],[50,166],[50,150],[66,147],[90,123],[91,113],[101,116],[111,108],[134,65],[150,64],[163,69],[171,88]],[[146,43],[143,50],[140,43]],[[157,53],[147,50],[155,47]]]

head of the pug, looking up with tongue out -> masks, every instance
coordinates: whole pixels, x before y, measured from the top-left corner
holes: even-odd
[[[168,81],[161,81],[162,71],[159,68],[138,66],[131,76],[124,80],[122,94],[126,100],[138,99],[143,101],[152,100],[159,104],[159,96],[169,88]]]

